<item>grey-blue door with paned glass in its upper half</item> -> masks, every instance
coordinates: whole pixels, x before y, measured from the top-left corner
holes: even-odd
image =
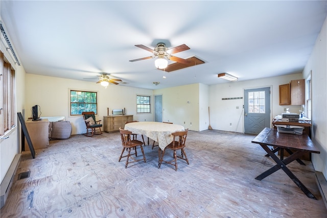
[[[270,87],[244,90],[244,133],[259,134],[270,128]]]

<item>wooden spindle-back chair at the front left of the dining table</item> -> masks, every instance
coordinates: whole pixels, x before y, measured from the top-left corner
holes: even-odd
[[[135,157],[137,157],[137,147],[138,146],[141,148],[141,151],[142,151],[142,154],[143,154],[143,160],[144,160],[144,162],[146,162],[146,158],[145,158],[145,155],[144,155],[144,150],[143,150],[143,147],[142,147],[142,144],[144,142],[139,141],[139,140],[132,140],[131,139],[131,135],[132,135],[131,131],[124,130],[121,127],[119,128],[119,131],[121,133],[123,150],[122,150],[121,156],[119,157],[118,162],[120,162],[123,157],[127,157],[127,160],[126,160],[126,163],[125,163],[125,168],[127,168],[127,165],[129,163],[133,163],[133,162],[137,162],[137,161],[142,160],[142,159],[136,159],[136,158],[134,158],[132,156],[132,155],[135,155]],[[133,150],[134,153],[131,154],[131,149],[132,148],[134,149]],[[124,155],[125,151],[127,151],[126,155]],[[129,161],[129,158],[133,159],[133,161]]]

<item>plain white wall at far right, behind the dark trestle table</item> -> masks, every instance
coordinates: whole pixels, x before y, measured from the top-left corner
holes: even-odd
[[[311,57],[303,70],[303,77],[311,73],[312,131],[311,137],[320,154],[312,154],[316,171],[327,178],[327,18],[317,37]]]

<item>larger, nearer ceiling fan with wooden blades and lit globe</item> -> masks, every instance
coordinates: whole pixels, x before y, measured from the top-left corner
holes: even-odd
[[[178,52],[183,52],[185,50],[189,50],[190,47],[185,44],[178,45],[176,47],[173,47],[172,49],[168,49],[168,47],[166,47],[166,44],[164,42],[157,43],[157,46],[154,49],[150,49],[149,47],[147,47],[143,44],[136,44],[135,46],[139,47],[140,49],[144,49],[148,52],[151,52],[153,55],[149,56],[149,57],[145,57],[145,58],[138,58],[138,59],[130,60],[130,62],[141,61],[141,60],[146,60],[146,59],[157,57],[157,59],[155,60],[155,66],[159,69],[166,68],[168,65],[168,60],[176,61],[176,62],[183,63],[183,64],[190,63],[189,60],[185,60],[183,58],[179,58],[179,57],[172,55],[172,54],[175,54]]]

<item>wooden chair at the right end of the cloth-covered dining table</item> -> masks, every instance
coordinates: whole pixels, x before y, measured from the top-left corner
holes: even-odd
[[[186,163],[190,164],[189,159],[185,153],[185,142],[186,142],[186,136],[188,135],[188,131],[189,129],[172,133],[172,135],[174,136],[174,140],[170,144],[168,144],[168,146],[164,149],[164,151],[162,151],[162,154],[160,156],[161,158],[158,163],[158,168],[160,168],[162,162],[165,162],[175,166],[175,171],[177,171],[178,159],[183,159],[186,161]],[[171,161],[164,160],[165,151],[167,149],[171,149],[174,151],[174,159]],[[181,150],[181,156],[176,155],[177,150]]]

